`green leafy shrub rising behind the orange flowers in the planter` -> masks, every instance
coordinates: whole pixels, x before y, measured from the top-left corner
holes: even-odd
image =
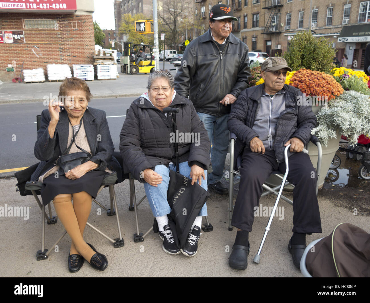
[[[292,38],[282,57],[292,70],[306,68],[329,74],[335,53],[328,39],[313,37],[310,31],[301,31]]]

